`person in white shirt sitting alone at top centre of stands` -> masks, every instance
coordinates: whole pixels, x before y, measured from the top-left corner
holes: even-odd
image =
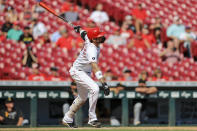
[[[109,21],[109,16],[105,11],[103,11],[103,5],[98,4],[96,10],[92,12],[90,15],[90,19],[93,20],[97,24],[103,24]]]

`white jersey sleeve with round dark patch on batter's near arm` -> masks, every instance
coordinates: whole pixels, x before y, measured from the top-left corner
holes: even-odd
[[[86,55],[90,63],[97,62],[97,50],[95,47],[88,47]]]

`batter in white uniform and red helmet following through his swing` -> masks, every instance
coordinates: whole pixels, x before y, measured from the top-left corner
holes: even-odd
[[[104,32],[100,32],[98,27],[91,28],[87,31],[80,26],[74,27],[77,33],[80,33],[81,38],[85,41],[84,47],[81,50],[78,58],[75,60],[70,69],[70,75],[77,84],[78,96],[72,103],[69,111],[65,113],[62,120],[63,124],[68,127],[73,127],[73,117],[78,109],[86,102],[89,93],[89,122],[93,127],[100,127],[101,123],[96,117],[96,104],[99,96],[99,86],[91,78],[91,72],[102,83],[102,88],[105,95],[109,95],[110,90],[104,81],[102,72],[98,67],[98,57],[100,53],[99,45],[104,43]]]

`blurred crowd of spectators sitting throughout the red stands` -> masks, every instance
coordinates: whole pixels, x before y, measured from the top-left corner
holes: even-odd
[[[63,26],[53,33],[49,33],[47,25],[40,21],[39,15],[44,13],[44,9],[38,5],[31,6],[28,1],[24,3],[24,11],[18,13],[13,6],[7,4],[6,0],[0,0],[0,12],[4,14],[5,22],[0,21],[0,42],[6,39],[17,41],[26,47],[21,60],[22,65],[32,68],[32,75],[28,80],[64,80],[58,74],[57,67],[51,67],[51,76],[46,76],[39,72],[39,63],[37,55],[32,51],[32,45],[38,41],[38,46],[51,44],[55,48],[62,48],[64,51],[83,46],[83,40],[73,38],[69,31]],[[78,6],[63,0],[60,12],[62,17],[76,22],[80,19]],[[130,15],[125,16],[124,21],[110,35],[105,42],[109,45],[125,45],[128,48],[137,48],[141,50],[151,49],[152,45],[161,47],[160,55],[163,61],[176,63],[183,57],[193,58],[191,52],[191,43],[197,40],[197,33],[192,27],[183,25],[179,17],[173,18],[170,26],[164,25],[160,17],[156,17],[152,23],[147,23],[148,15],[141,3],[131,11]],[[86,27],[102,26],[110,21],[107,12],[103,10],[103,5],[98,4],[96,9],[90,14]],[[164,31],[165,30],[165,31]],[[184,48],[184,52],[181,50]],[[106,73],[106,80],[135,80],[132,78],[132,71],[125,69],[123,77],[117,78],[109,69]],[[161,70],[155,69],[154,76],[150,80],[167,80],[162,75]]]

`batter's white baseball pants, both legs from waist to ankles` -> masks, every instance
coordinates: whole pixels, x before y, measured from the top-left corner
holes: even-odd
[[[84,71],[79,71],[72,67],[69,72],[77,84],[78,97],[74,100],[70,110],[66,114],[68,117],[73,118],[74,113],[76,113],[87,100],[89,92],[89,122],[97,120],[95,111],[99,96],[99,86],[92,80],[90,74]]]

